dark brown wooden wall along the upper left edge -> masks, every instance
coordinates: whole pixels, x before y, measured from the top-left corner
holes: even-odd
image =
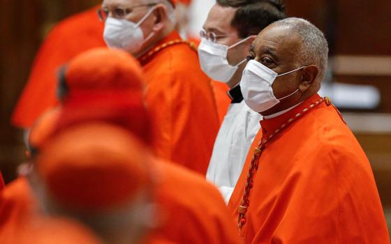
[[[6,181],[15,177],[15,166],[24,160],[22,132],[9,122],[40,42],[49,26],[97,3],[100,1],[0,1],[0,169]]]

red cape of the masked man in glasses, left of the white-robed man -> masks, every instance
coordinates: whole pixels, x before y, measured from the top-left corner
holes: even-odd
[[[140,57],[158,156],[205,174],[219,130],[214,93],[197,52],[177,31]]]

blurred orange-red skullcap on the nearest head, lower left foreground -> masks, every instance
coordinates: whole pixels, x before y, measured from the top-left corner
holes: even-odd
[[[50,138],[36,160],[49,196],[75,211],[128,205],[149,185],[147,151],[124,128],[73,126]]]

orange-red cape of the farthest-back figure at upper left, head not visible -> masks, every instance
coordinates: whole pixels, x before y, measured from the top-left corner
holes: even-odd
[[[57,105],[57,70],[77,54],[105,47],[104,24],[96,15],[98,6],[68,17],[50,31],[31,68],[27,85],[17,102],[12,123],[29,128],[50,107]]]

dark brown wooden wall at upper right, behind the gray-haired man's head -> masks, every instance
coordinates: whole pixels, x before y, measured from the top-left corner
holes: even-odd
[[[322,29],[332,54],[391,55],[391,1],[286,0],[289,16]]]

